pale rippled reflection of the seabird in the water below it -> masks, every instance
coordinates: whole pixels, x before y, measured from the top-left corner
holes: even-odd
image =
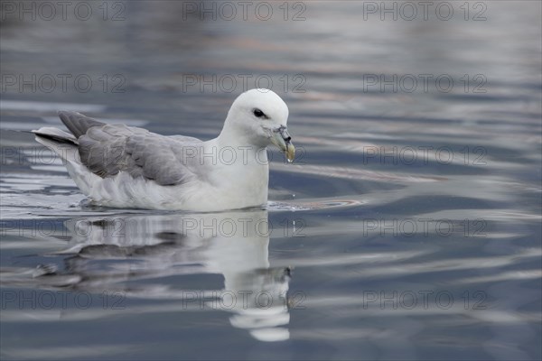
[[[290,269],[269,267],[266,210],[73,218],[66,227],[71,238],[61,254],[70,256],[62,277],[73,289],[226,310],[233,327],[258,340],[289,338]],[[177,281],[206,273],[222,274],[224,288],[186,289]]]

